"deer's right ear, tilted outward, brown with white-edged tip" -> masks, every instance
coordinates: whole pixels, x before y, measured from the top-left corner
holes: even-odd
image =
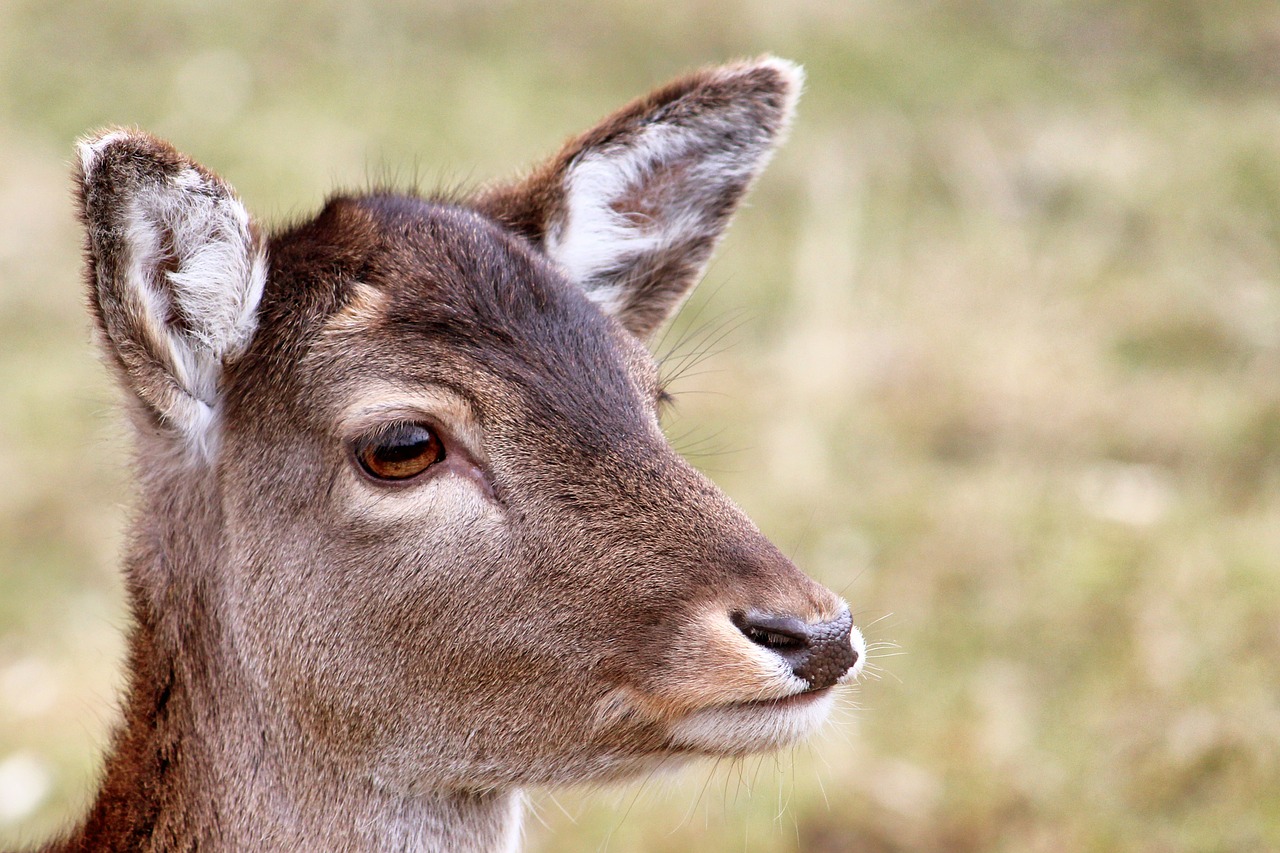
[[[774,58],[690,74],[477,206],[648,338],[698,282],[786,131],[801,82],[797,65]]]

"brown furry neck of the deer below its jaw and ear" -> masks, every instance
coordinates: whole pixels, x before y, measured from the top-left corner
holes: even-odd
[[[124,720],[84,824],[50,853],[518,848],[520,792],[392,792],[326,766],[323,748],[273,715],[234,652],[215,581],[214,478],[161,493],[143,502],[125,561]]]

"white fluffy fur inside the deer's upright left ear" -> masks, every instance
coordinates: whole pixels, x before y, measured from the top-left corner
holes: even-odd
[[[207,457],[216,439],[223,362],[243,352],[257,327],[266,251],[239,200],[195,169],[138,190],[124,232],[125,287],[141,325],[187,396],[165,414]],[[169,264],[175,269],[165,269]],[[179,324],[172,321],[175,315]]]

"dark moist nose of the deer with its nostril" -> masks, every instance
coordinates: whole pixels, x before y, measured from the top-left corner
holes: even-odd
[[[812,625],[795,616],[755,611],[732,613],[731,619],[746,639],[778,654],[814,690],[831,686],[858,662],[849,642],[854,620],[847,610],[838,619]]]

